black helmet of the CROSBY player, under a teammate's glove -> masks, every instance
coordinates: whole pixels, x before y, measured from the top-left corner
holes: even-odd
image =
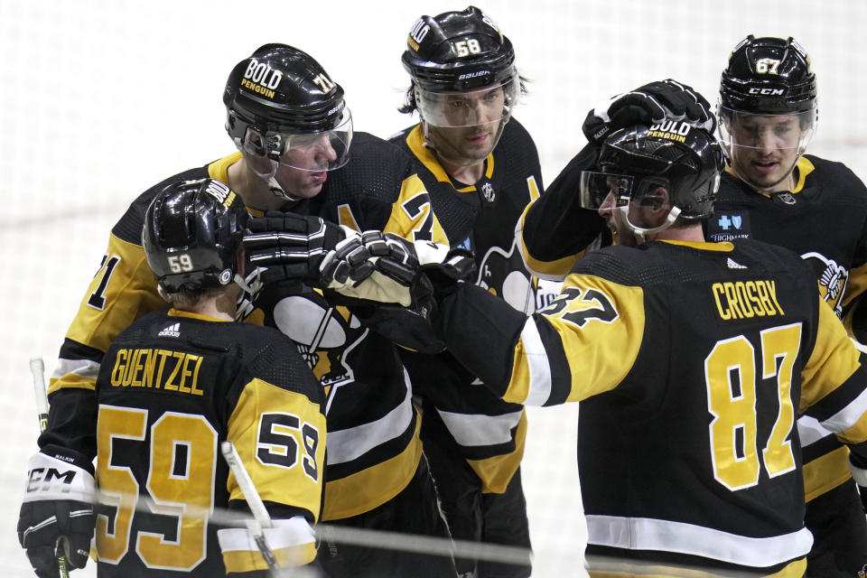
[[[704,129],[678,121],[654,126],[633,126],[611,133],[602,144],[602,172],[584,171],[581,176],[582,204],[599,208],[613,193],[615,204],[653,205],[655,191],[664,188],[671,210],[664,226],[641,229],[641,233],[668,228],[677,218],[704,219],[713,211],[713,197],[723,167],[722,150]]]

